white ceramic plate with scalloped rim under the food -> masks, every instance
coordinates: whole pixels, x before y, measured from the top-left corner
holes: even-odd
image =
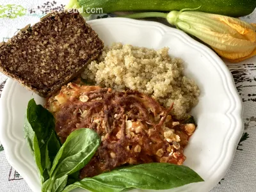
[[[187,160],[184,164],[205,182],[166,191],[211,190],[230,167],[243,132],[241,100],[223,61],[185,33],[157,22],[99,19],[88,23],[105,44],[122,42],[154,49],[166,46],[170,47],[171,56],[185,61],[186,75],[195,79],[202,93],[199,104],[191,112],[198,127],[185,150]],[[26,106],[32,97],[37,103],[44,103],[44,99],[8,79],[1,97],[0,139],[9,163],[33,191],[39,192],[38,173],[23,132]]]

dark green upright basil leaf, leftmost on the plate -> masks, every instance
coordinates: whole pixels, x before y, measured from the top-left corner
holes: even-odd
[[[29,148],[33,149],[31,151],[42,182],[49,179],[51,165],[61,146],[54,127],[52,114],[43,106],[36,105],[34,99],[29,100],[24,125],[25,138]]]

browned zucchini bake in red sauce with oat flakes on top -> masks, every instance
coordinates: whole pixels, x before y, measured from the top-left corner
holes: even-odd
[[[62,142],[76,129],[90,128],[102,143],[81,170],[80,177],[93,177],[117,166],[140,163],[182,164],[184,147],[196,125],[175,120],[171,108],[136,90],[68,83],[47,99],[45,105],[56,118]]]

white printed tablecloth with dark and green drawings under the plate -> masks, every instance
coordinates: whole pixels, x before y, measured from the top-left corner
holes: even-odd
[[[68,0],[1,0],[0,42],[8,40],[19,29],[37,22],[50,10],[62,10]],[[93,19],[108,17],[95,16]],[[244,20],[256,23],[256,10]],[[227,63],[244,104],[244,134],[237,147],[230,170],[211,192],[256,191],[256,56],[237,64]],[[0,97],[7,77],[0,73]],[[1,141],[0,141],[1,142]],[[0,191],[31,191],[22,176],[6,161],[0,143]],[[206,191],[198,191],[206,192]]]

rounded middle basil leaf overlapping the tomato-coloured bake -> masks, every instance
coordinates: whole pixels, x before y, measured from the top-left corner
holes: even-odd
[[[83,168],[100,145],[100,137],[92,129],[77,129],[71,132],[56,155],[51,168],[51,177],[60,178]]]

